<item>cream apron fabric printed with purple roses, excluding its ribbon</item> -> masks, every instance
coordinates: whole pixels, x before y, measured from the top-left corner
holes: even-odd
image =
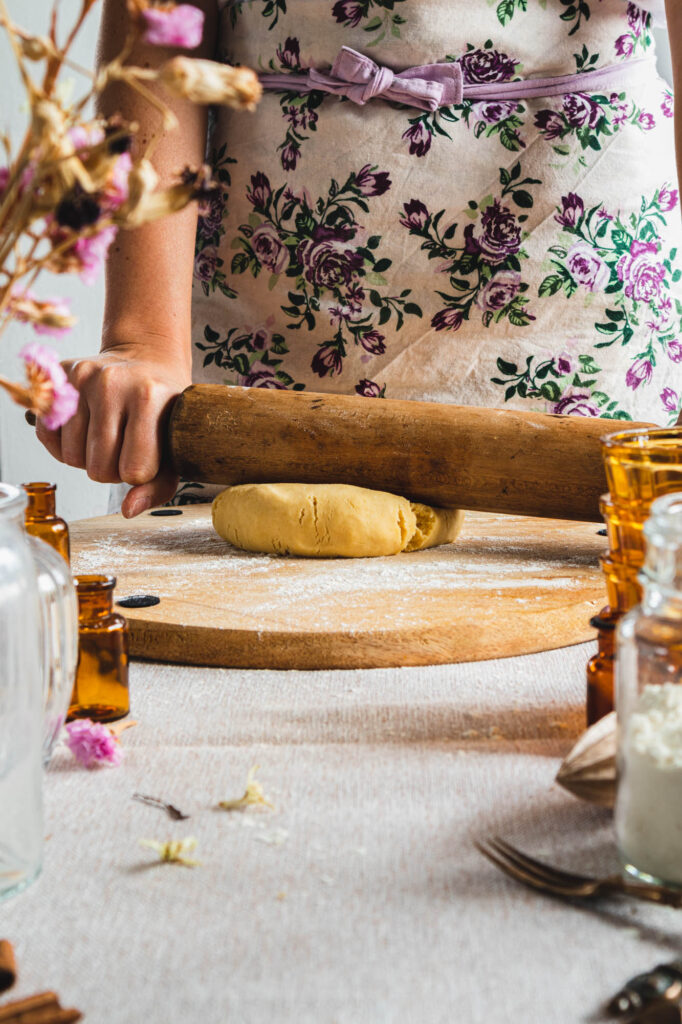
[[[653,61],[663,6],[225,3],[219,56],[263,74],[328,74],[348,46],[396,72],[457,61],[486,98],[425,112],[292,87],[251,117],[218,112],[197,379],[674,422],[682,231],[673,95]],[[622,87],[582,87],[613,65]],[[564,75],[563,94],[504,94]]]

